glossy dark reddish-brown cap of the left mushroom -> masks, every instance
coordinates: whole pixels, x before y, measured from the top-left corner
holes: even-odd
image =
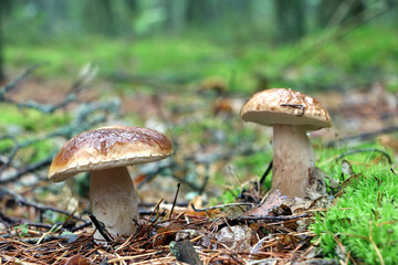
[[[126,167],[167,158],[171,142],[154,129],[109,126],[82,132],[55,155],[49,179],[64,181],[78,172]]]

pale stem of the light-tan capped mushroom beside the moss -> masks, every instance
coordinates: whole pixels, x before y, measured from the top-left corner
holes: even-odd
[[[304,197],[315,168],[315,155],[304,126],[273,125],[272,189],[290,198]]]

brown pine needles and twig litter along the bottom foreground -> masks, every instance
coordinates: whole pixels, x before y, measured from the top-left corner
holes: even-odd
[[[297,220],[310,220],[308,212],[268,219],[242,216],[210,218],[178,208],[172,219],[159,218],[158,213],[151,220],[144,218],[136,234],[116,237],[111,245],[94,243],[91,227],[72,233],[55,226],[50,230],[23,224],[10,226],[0,235],[0,264],[178,264],[169,246],[184,240],[192,243],[203,264],[243,264],[269,258],[286,264],[310,258],[314,235],[297,232],[295,224]],[[244,239],[250,247],[244,252],[218,233],[222,229],[228,233],[237,226],[250,232]]]

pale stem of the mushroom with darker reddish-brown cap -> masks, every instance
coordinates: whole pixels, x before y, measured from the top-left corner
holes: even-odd
[[[115,236],[130,235],[137,227],[138,202],[127,168],[92,171],[90,177],[91,210]],[[95,240],[104,240],[98,231]]]

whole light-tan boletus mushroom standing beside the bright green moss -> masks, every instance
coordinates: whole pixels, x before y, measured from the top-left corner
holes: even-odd
[[[326,109],[303,93],[272,88],[254,94],[240,116],[273,127],[272,189],[290,198],[304,197],[315,168],[307,131],[332,126]]]

